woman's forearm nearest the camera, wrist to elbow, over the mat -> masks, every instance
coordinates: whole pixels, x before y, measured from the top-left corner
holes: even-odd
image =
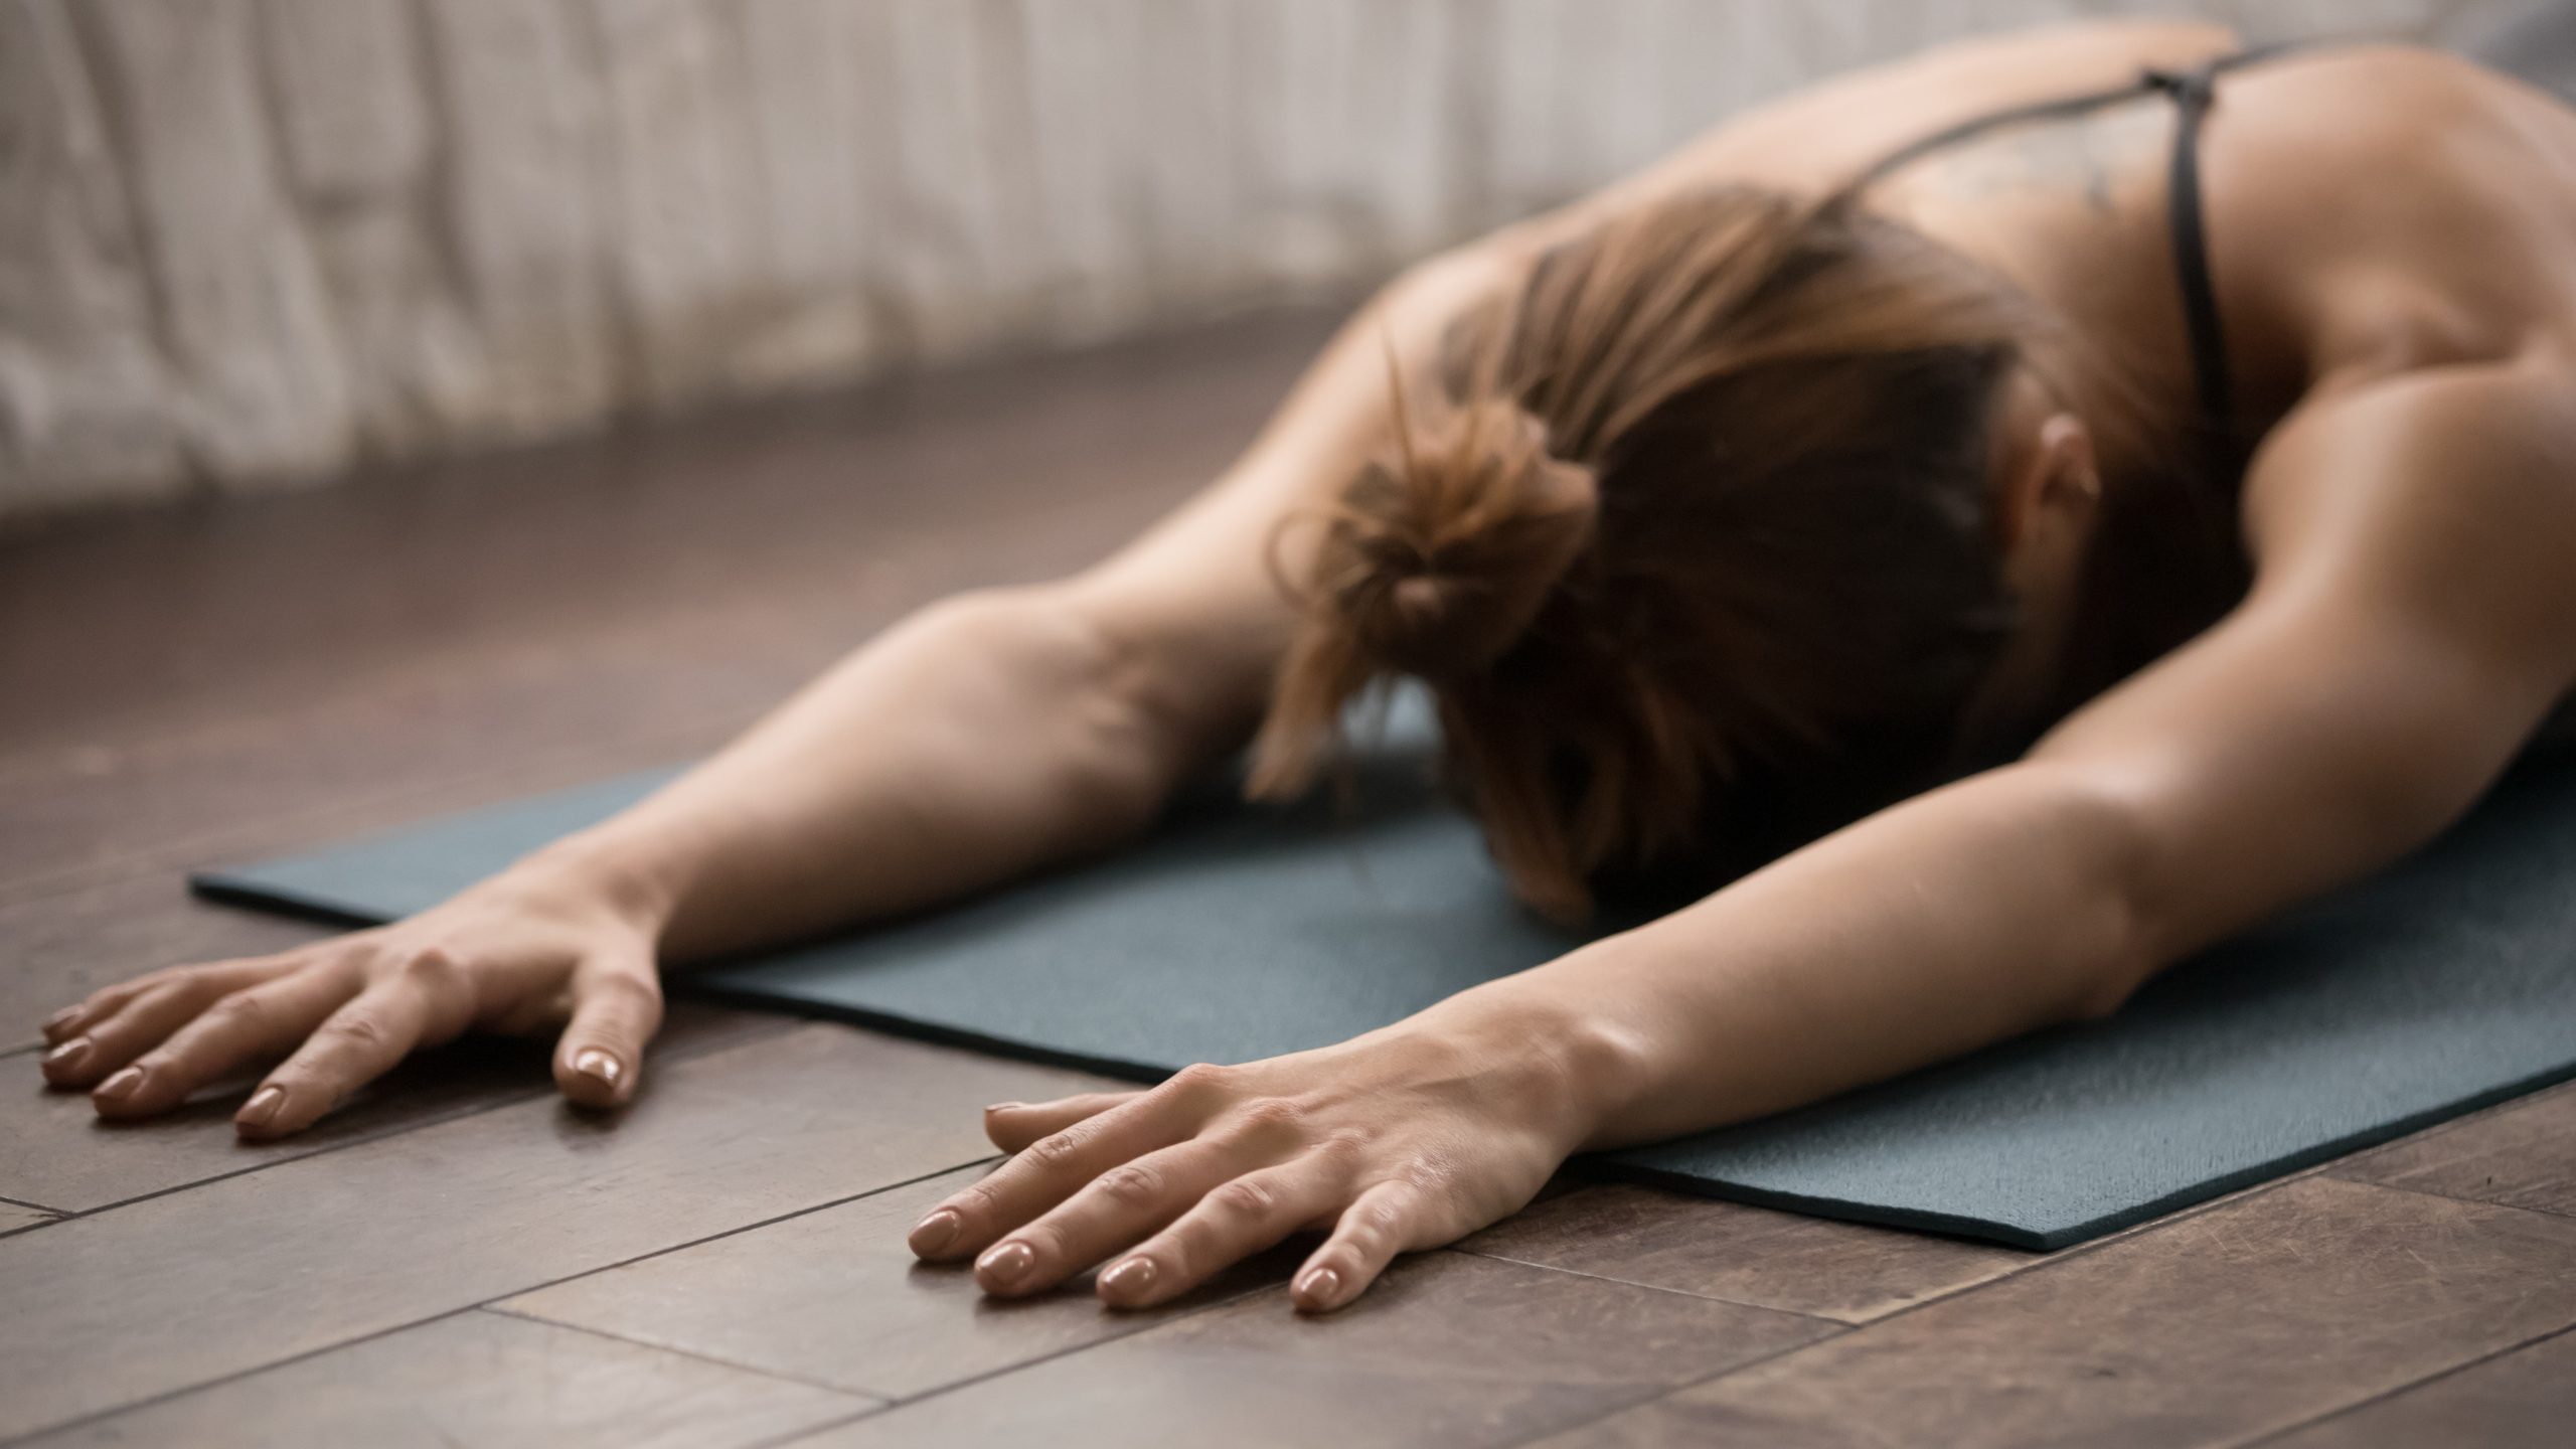
[[[1780,1111],[2115,1006],[2164,949],[2136,835],[2009,766],[1432,1013],[1561,1042],[1589,1147]]]

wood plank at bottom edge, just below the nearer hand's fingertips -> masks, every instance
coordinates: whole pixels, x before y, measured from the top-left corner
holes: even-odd
[[[1265,1289],[804,1444],[1517,1444],[1829,1333],[1821,1318],[1427,1253],[1332,1318]]]

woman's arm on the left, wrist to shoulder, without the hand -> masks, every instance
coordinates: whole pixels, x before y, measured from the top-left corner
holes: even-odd
[[[1249,732],[1285,642],[1278,521],[1383,441],[1388,348],[1422,369],[1502,248],[1412,268],[1206,495],[1105,565],[933,606],[721,755],[531,859],[659,926],[665,959],[786,941],[994,884],[1144,828]]]

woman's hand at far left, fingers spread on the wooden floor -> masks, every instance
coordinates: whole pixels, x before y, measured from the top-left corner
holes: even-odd
[[[234,1114],[242,1137],[265,1140],[301,1132],[415,1047],[564,1024],[554,1083],[616,1106],[662,1024],[657,936],[654,908],[536,856],[392,926],[98,990],[44,1024],[44,1075],[131,1119],[278,1062]]]

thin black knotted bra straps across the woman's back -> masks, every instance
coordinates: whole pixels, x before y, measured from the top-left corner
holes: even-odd
[[[2174,281],[2182,284],[2182,322],[2192,345],[2192,384],[2200,394],[2200,425],[2210,446],[2228,449],[2236,443],[2236,387],[2228,379],[2228,343],[2226,327],[2218,320],[2218,289],[2210,284],[2210,240],[2200,204],[2200,121],[2208,119],[2210,103],[2218,98],[2218,77],[2223,72],[2290,49],[2300,49],[2300,41],[2241,49],[2190,70],[2146,67],[2138,72],[2138,80],[2110,90],[2087,90],[2081,95],[2061,95],[2056,101],[2035,101],[2030,106],[1971,116],[1955,126],[1942,126],[1919,142],[1888,152],[1860,173],[1850,191],[1860,191],[1911,160],[1986,131],[2030,121],[2084,116],[2089,111],[2099,111],[2102,106],[2133,101],[2138,95],[2172,95],[2174,155],[2166,186],[2166,217],[2174,237]]]

